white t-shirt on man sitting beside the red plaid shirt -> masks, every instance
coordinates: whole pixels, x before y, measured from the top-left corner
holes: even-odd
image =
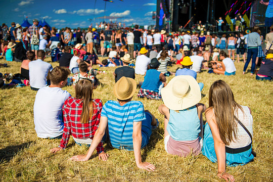
[[[62,108],[71,95],[60,87],[45,86],[38,90],[33,114],[39,138],[54,138],[63,134]]]

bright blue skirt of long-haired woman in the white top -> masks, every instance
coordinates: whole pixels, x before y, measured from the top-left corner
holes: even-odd
[[[254,159],[254,156],[251,154],[252,146],[248,151],[241,152],[238,154],[229,154],[225,153],[225,161],[228,166],[238,166],[245,165]],[[212,133],[208,123],[205,125],[204,129],[204,139],[203,139],[203,148],[202,153],[206,156],[211,162],[217,162],[215,150],[214,150],[214,141]]]

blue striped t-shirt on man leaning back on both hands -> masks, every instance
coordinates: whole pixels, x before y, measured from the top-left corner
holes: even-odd
[[[130,101],[120,106],[117,101],[107,101],[103,106],[101,116],[108,118],[109,138],[112,146],[117,149],[133,150],[133,122],[146,119],[143,104],[139,101]]]

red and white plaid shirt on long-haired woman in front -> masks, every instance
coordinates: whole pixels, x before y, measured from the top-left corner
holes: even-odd
[[[65,149],[69,141],[70,135],[76,139],[90,138],[93,140],[96,130],[99,127],[102,111],[102,101],[100,99],[93,100],[93,116],[89,123],[81,123],[80,115],[82,111],[82,100],[69,97],[63,106],[64,114],[64,132],[61,140],[60,148]],[[104,151],[103,143],[97,147],[97,152]]]

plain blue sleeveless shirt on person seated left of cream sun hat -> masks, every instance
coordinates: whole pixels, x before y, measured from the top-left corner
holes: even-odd
[[[150,91],[159,92],[158,88],[161,82],[159,75],[160,75],[160,72],[157,71],[156,69],[147,70],[141,87],[143,89],[148,89]]]

